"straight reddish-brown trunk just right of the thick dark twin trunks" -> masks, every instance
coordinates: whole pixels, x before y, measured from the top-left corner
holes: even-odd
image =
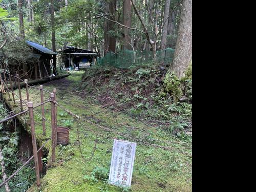
[[[132,3],[130,0],[123,0],[123,25],[130,27],[132,25],[132,14],[131,14]],[[123,27],[123,49],[131,50],[131,29]],[[130,44],[129,44],[130,43]]]

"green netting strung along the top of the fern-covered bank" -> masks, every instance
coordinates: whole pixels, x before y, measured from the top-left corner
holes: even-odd
[[[165,50],[157,51],[156,59],[157,62],[162,62],[165,64],[171,63],[173,61],[174,49],[167,48]],[[97,65],[105,66],[111,65],[117,68],[127,69],[131,66],[140,66],[142,63],[152,61],[153,54],[152,51],[130,51],[125,50],[118,54],[107,53],[103,58],[97,60]]]

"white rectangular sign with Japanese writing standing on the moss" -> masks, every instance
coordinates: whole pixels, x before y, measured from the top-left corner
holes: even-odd
[[[109,183],[131,186],[136,143],[114,139]]]

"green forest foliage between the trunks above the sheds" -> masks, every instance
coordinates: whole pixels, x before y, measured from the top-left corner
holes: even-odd
[[[65,1],[54,1],[55,11],[55,36],[56,36],[56,48],[57,50],[63,48],[63,46],[75,46],[84,49],[91,49],[100,52],[104,55],[104,38],[106,35],[110,35],[116,39],[116,52],[122,49],[123,42],[123,27],[118,24],[114,24],[113,29],[105,31],[106,18],[109,10],[106,9],[109,3],[115,1],[91,1],[91,0],[79,0],[68,1],[68,6],[65,7]],[[143,1],[136,1],[136,6],[143,18],[143,22],[148,27],[148,33],[152,36],[155,34],[155,28],[159,32],[162,30],[163,25],[163,0],[148,1],[148,6],[152,6],[151,15],[148,14],[147,4]],[[150,4],[150,5],[149,5]],[[176,5],[178,6],[176,7]],[[51,12],[50,1],[40,0],[32,1],[33,6],[33,21],[29,20],[29,10],[31,9],[27,4],[27,1],[23,3],[23,17],[25,28],[25,39],[35,41],[47,48],[52,48],[51,39]],[[181,6],[177,0],[170,2],[170,10],[175,8],[174,13],[170,13],[170,22],[173,24],[173,29],[167,34],[167,47],[175,48],[177,37],[177,26],[179,21],[179,12]],[[2,8],[0,7],[1,17],[9,17],[9,20],[4,22],[4,26],[8,31],[8,40],[12,41],[19,36],[19,21],[18,21],[18,7],[12,0],[4,0],[2,2]],[[114,13],[115,21],[122,23],[123,16],[123,4],[122,1],[116,1],[116,12]],[[8,13],[9,12],[9,15]],[[106,17],[103,17],[106,16]],[[134,9],[131,10],[131,26],[142,30],[143,27],[139,18],[136,16]],[[153,22],[151,21],[151,18]],[[10,19],[11,18],[11,19]],[[3,18],[1,18],[3,20]],[[168,21],[167,21],[168,23]],[[138,30],[131,30],[130,36],[131,50],[149,50],[148,44],[145,39],[145,35]],[[106,34],[107,33],[107,34]],[[159,41],[161,41],[161,35],[157,37],[157,49],[160,49]]]

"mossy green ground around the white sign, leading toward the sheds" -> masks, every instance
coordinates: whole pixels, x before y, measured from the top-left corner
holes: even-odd
[[[129,127],[137,127],[138,129],[147,130],[151,138],[161,139],[165,141],[176,142],[175,137],[168,136],[159,126],[148,124],[131,118],[122,113],[108,111],[102,109],[101,106],[93,101],[88,95],[87,98],[81,99],[75,89],[78,87],[81,79],[81,73],[75,73],[63,80],[56,80],[44,84],[44,88],[52,91],[57,89],[57,101],[65,106],[65,108],[75,114],[91,119],[101,125],[110,127],[115,130],[122,131],[142,137],[139,131],[131,131]],[[39,87],[39,86],[38,86]],[[18,93],[17,90],[15,91]],[[25,89],[23,89],[23,98]],[[45,98],[49,94],[45,93]],[[39,90],[30,89],[30,100],[33,103],[40,103]],[[18,102],[18,100],[17,100]],[[50,107],[46,104],[46,118],[50,121]],[[40,109],[37,109],[40,112]],[[63,112],[58,108],[58,126],[63,125],[63,120],[74,120],[71,116],[60,116]],[[62,120],[62,121],[61,121]],[[42,137],[41,120],[35,114],[37,140],[41,143],[50,136],[51,127],[47,125],[47,136]],[[122,136],[99,130],[98,127],[85,123],[90,129],[100,131],[104,137],[98,137],[97,150],[92,160],[86,162],[81,158],[79,145],[77,141],[76,123],[73,122],[70,131],[70,150],[64,150],[57,147],[56,163],[47,170],[47,174],[41,179],[41,187],[33,185],[29,191],[103,191],[100,188],[108,187],[109,191],[122,191],[121,188],[106,185],[102,181],[94,184],[83,180],[85,174],[90,175],[96,166],[110,167],[113,138],[131,140]],[[92,154],[95,134],[87,131],[86,127],[78,124],[79,136],[82,153],[84,157],[89,158]],[[50,142],[46,145],[50,149]],[[186,146],[191,147],[191,142],[186,141]],[[190,149],[184,149],[184,145],[172,143],[169,146],[182,149],[184,152],[191,153]],[[49,155],[50,156],[50,155]],[[179,152],[179,150],[167,151],[162,148],[145,146],[137,143],[135,165],[132,179],[132,191],[191,191],[191,158]]]

